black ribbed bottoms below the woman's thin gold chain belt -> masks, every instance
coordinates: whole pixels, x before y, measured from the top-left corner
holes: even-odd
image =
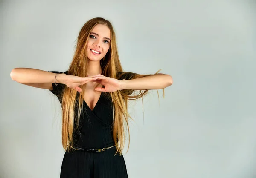
[[[65,152],[60,178],[128,178],[123,155],[116,147],[103,152]]]

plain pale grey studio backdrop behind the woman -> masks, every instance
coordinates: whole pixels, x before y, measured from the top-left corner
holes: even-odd
[[[10,78],[64,72],[93,17],[111,21],[125,71],[174,83],[130,102],[129,178],[256,177],[256,2],[0,1],[0,177],[58,178],[61,106]],[[143,118],[144,116],[144,118]],[[128,137],[127,137],[128,138]]]

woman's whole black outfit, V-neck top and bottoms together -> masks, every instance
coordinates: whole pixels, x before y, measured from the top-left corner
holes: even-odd
[[[58,71],[49,71],[58,73]],[[63,73],[63,72],[60,72]],[[67,74],[67,71],[64,72]],[[64,84],[52,83],[52,92],[59,94]],[[78,92],[79,94],[79,92]],[[101,149],[115,145],[113,140],[113,108],[107,92],[102,92],[96,106],[91,110],[83,102],[79,131],[74,132],[75,145],[79,148]],[[74,128],[75,129],[75,128]],[[65,152],[61,165],[60,178],[128,178],[123,155],[116,153],[116,147],[102,152],[74,150]]]

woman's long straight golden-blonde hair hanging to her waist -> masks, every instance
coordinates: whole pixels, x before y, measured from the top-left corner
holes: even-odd
[[[101,60],[102,75],[107,77],[122,79],[134,79],[141,78],[149,75],[140,75],[132,72],[123,72],[119,55],[116,46],[116,35],[113,30],[113,26],[108,20],[104,18],[93,18],[87,21],[81,28],[77,38],[76,50],[73,56],[73,60],[70,63],[70,67],[67,71],[68,75],[76,75],[80,77],[87,76],[87,49],[86,44],[91,30],[97,24],[103,24],[108,26],[111,32],[111,43],[110,48],[105,55],[105,60]],[[159,71],[157,71],[159,72]],[[157,73],[156,72],[156,73]],[[85,84],[86,85],[86,84]],[[82,92],[79,93],[79,98],[77,98],[77,91],[71,89],[67,86],[61,93],[61,108],[62,108],[62,146],[64,150],[68,151],[73,148],[73,131],[74,123],[78,126],[80,120],[80,114],[83,110],[83,94],[84,87],[79,86]],[[131,95],[133,93],[132,89],[118,90],[116,92],[111,92],[111,99],[113,103],[113,138],[116,145],[116,153],[122,154],[122,150],[125,144],[125,126],[128,129],[128,149],[130,145],[130,132],[128,126],[128,118],[131,118],[127,112],[128,100],[135,100],[142,98],[148,92],[147,89],[140,90],[137,95]],[[163,91],[164,92],[164,91]],[[157,92],[158,93],[158,92]],[[159,95],[158,95],[159,97]],[[131,118],[132,119],[132,118]],[[124,124],[125,123],[125,124]],[[128,151],[127,149],[127,151]]]

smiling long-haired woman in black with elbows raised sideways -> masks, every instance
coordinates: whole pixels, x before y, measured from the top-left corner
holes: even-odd
[[[15,68],[11,77],[49,89],[61,103],[61,178],[127,178],[122,155],[125,126],[129,133],[127,101],[172,85],[170,75],[123,72],[113,26],[103,18],[84,24],[66,72]]]

